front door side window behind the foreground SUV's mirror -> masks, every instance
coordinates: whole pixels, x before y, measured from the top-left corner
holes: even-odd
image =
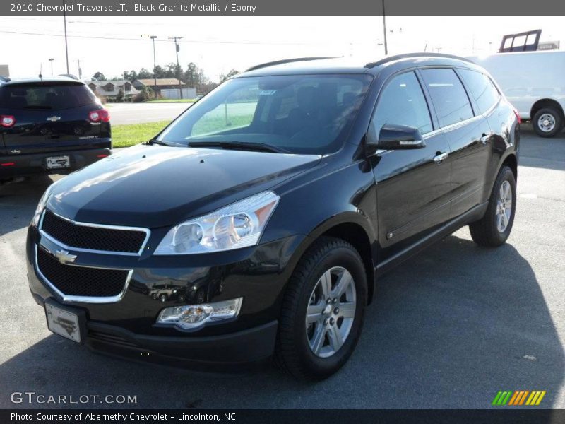
[[[385,124],[408,125],[422,134],[432,131],[432,119],[414,72],[395,76],[384,88],[371,125],[379,134]]]

